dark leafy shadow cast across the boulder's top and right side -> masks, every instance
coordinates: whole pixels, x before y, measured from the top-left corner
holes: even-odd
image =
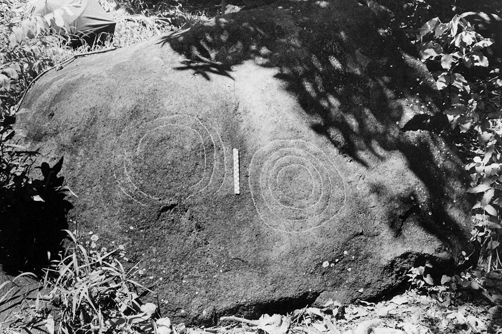
[[[420,112],[430,110],[426,105],[437,103],[438,94],[425,68],[400,50],[380,20],[355,1],[280,1],[167,35],[160,44],[188,59],[191,66],[178,70],[203,73],[206,80],[210,74],[232,77],[232,66],[246,61],[277,69],[275,77],[310,116],[312,130],[347,158],[369,169],[387,152],[404,156],[407,168],[425,184],[435,212],[428,217],[429,208],[419,210],[427,216],[418,219],[422,227],[447,244],[465,243],[457,226],[462,217],[446,209],[462,193],[450,182],[462,179],[462,166],[432,133],[440,131],[435,125],[442,118]],[[396,203],[392,214],[407,211],[406,199],[392,198],[395,189],[382,191]],[[462,205],[467,212],[468,203]],[[391,214],[394,208],[386,210]]]

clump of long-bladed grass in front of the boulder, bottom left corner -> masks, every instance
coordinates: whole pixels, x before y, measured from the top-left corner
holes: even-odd
[[[113,256],[119,249],[88,250],[66,232],[70,244],[45,272],[37,297],[21,310],[23,316],[11,319],[10,328],[29,332],[45,326],[51,334],[171,332],[170,320],[160,317],[157,306],[140,301],[137,288],[150,290],[133,281],[131,271]]]

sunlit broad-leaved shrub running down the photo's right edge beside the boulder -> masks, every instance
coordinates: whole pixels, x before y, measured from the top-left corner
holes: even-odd
[[[478,152],[465,169],[476,194],[472,241],[481,245],[489,268],[502,268],[499,210],[502,205],[502,77],[488,60],[493,41],[476,33],[465,19],[428,21],[420,31],[420,57],[444,97],[444,114],[453,129],[477,134]],[[500,212],[502,214],[502,212]]]

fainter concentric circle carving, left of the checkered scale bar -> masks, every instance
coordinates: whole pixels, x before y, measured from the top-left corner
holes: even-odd
[[[212,195],[226,177],[220,135],[193,116],[166,116],[127,127],[113,153],[118,187],[142,205]]]

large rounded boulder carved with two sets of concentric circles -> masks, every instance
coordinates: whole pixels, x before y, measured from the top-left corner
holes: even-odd
[[[432,78],[375,17],[285,1],[79,58],[33,86],[19,127],[64,156],[78,229],[125,245],[163,314],[382,295],[459,260],[469,203]]]

